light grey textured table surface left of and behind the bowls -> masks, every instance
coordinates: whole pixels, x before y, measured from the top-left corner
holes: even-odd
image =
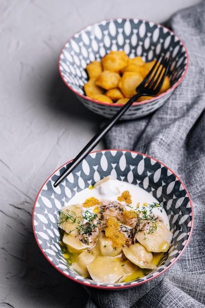
[[[88,295],[54,269],[33,236],[44,181],[103,120],[61,81],[59,52],[87,25],[136,17],[162,23],[200,0],[0,0],[0,307],[80,308]],[[104,149],[101,142],[95,150]]]

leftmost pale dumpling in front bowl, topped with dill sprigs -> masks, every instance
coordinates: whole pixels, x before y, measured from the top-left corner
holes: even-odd
[[[68,205],[59,214],[59,228],[67,234],[75,235],[79,223],[82,221],[82,204]]]

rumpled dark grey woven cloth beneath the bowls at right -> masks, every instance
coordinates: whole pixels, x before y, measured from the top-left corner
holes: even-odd
[[[205,307],[205,1],[177,12],[169,27],[188,50],[185,78],[152,115],[117,123],[106,144],[150,155],[179,176],[194,207],[192,238],[167,272],[145,284],[117,291],[85,287],[86,308]]]

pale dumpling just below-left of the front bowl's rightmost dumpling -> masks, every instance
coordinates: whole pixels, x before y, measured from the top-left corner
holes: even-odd
[[[125,246],[122,248],[124,255],[135,265],[138,265],[142,269],[154,269],[152,261],[152,253],[147,251],[144,246],[139,243],[131,245],[129,247]]]

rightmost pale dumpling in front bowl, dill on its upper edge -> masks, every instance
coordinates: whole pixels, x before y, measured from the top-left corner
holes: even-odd
[[[140,231],[136,235],[137,241],[146,247],[148,251],[152,252],[166,252],[171,244],[173,234],[161,222],[157,221],[150,232],[150,228]]]

